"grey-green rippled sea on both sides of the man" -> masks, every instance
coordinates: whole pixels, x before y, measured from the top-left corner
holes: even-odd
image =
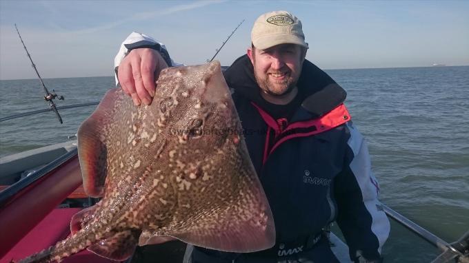
[[[366,137],[380,199],[446,242],[469,231],[469,66],[326,70],[347,91]],[[57,106],[100,101],[114,77],[46,78]],[[0,118],[46,109],[38,79],[0,81]],[[74,136],[96,106],[0,123],[0,157]],[[1,171],[0,171],[1,173]],[[431,262],[440,251],[391,221],[385,262]]]

